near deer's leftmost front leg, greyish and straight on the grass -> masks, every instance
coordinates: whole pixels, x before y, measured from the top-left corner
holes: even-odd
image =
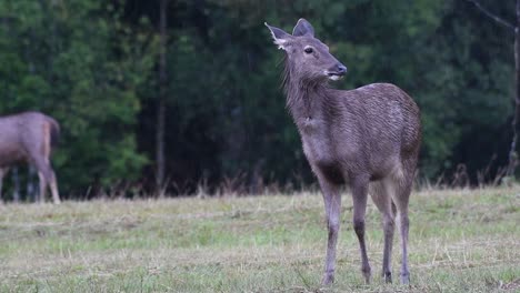
[[[320,180],[321,191],[323,193],[323,201],[326,208],[327,229],[329,238],[327,241],[327,255],[324,262],[324,272],[321,283],[328,285],[334,281],[336,270],[336,250],[338,242],[338,233],[340,226],[341,214],[341,194],[339,186],[332,184],[324,179]]]

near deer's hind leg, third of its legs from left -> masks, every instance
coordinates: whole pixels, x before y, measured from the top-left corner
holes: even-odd
[[[384,233],[384,249],[382,262],[382,277],[384,282],[392,282],[392,244],[394,231],[396,205],[392,203],[392,192],[394,184],[389,180],[370,183],[370,195],[373,203],[382,214],[382,225]]]

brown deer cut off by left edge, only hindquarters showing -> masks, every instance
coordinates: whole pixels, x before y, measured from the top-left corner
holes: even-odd
[[[52,200],[60,203],[54,171],[50,154],[58,142],[60,127],[54,119],[38,112],[24,112],[0,118],[0,199],[2,178],[9,166],[27,162],[38,170],[40,179],[40,202],[44,201],[47,184],[50,184]]]

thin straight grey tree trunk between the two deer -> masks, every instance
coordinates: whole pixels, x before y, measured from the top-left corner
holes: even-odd
[[[157,108],[157,178],[156,188],[163,195],[164,184],[164,120],[167,99],[167,6],[168,0],[160,0],[160,53],[159,53],[159,102]]]

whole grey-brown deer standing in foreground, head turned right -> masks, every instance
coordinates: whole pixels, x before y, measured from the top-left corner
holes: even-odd
[[[391,251],[396,212],[401,232],[401,283],[408,284],[408,201],[421,142],[419,108],[401,89],[373,83],[344,91],[328,87],[347,68],[314,38],[300,19],[292,36],[266,23],[274,43],[286,51],[283,85],[287,105],[303,152],[323,193],[329,239],[323,284],[334,280],[336,243],[340,225],[342,184],[350,185],[353,229],[361,251],[361,271],[370,282],[364,240],[368,193],[382,213],[384,252],[382,275],[391,282]]]

